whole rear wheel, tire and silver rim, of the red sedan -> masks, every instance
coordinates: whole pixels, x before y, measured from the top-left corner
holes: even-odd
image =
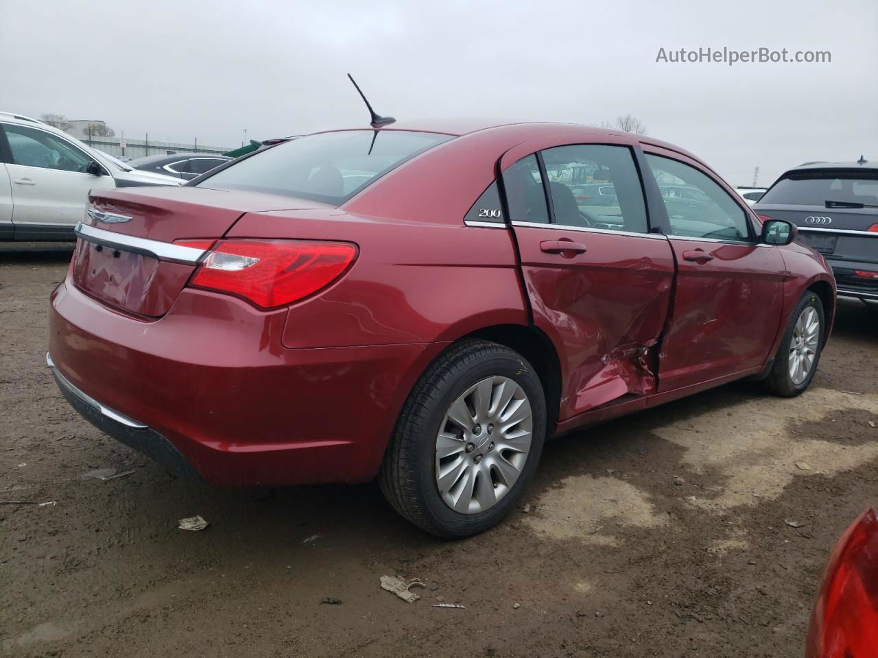
[[[415,384],[381,467],[381,490],[429,533],[480,533],[521,497],[545,425],[543,387],[529,362],[497,343],[466,340]]]

